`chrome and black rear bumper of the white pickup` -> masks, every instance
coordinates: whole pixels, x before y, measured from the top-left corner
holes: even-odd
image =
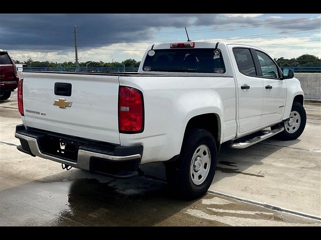
[[[15,136],[20,139],[21,145],[17,148],[22,152],[116,177],[136,175],[143,151],[141,145],[125,147],[35,128],[25,129],[23,124],[16,126]],[[69,144],[72,150],[66,146],[62,149],[60,142]]]

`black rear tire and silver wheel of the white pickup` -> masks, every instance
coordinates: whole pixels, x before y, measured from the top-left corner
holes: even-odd
[[[207,192],[214,178],[217,149],[213,135],[204,129],[186,133],[180,157],[166,163],[169,188],[177,195],[195,199]]]

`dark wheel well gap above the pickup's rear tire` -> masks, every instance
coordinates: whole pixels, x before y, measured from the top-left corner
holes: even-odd
[[[216,140],[217,149],[219,149],[221,141],[221,121],[217,114],[206,113],[192,117],[186,125],[185,133],[191,128],[201,128],[211,132]]]

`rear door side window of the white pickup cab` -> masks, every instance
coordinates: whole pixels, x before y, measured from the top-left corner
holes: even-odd
[[[233,48],[233,54],[239,71],[245,75],[256,75],[253,57],[248,48]]]

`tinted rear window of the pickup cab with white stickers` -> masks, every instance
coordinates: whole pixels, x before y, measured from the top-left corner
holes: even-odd
[[[214,48],[149,50],[142,69],[143,71],[225,72],[221,50]]]

